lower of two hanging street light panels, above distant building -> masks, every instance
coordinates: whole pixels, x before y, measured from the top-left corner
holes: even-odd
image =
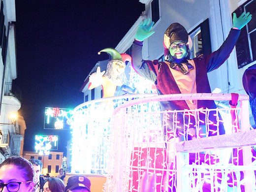
[[[49,155],[50,150],[58,149],[58,135],[35,135],[35,152]]]

